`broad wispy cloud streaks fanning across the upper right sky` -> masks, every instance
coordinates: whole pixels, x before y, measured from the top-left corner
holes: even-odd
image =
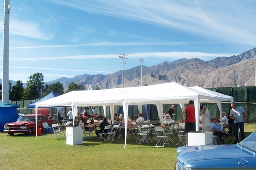
[[[91,3],[73,0],[71,3],[55,0],[55,2],[86,12],[175,28],[212,39],[256,44],[256,23],[250,21],[250,16],[256,15],[255,1],[244,3],[231,0],[95,0]],[[248,24],[250,26],[247,26]]]

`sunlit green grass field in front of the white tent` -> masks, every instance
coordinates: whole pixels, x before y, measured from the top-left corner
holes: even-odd
[[[256,130],[256,124],[246,124],[246,136]],[[2,170],[172,170],[176,161],[177,137],[171,147],[156,148],[136,143],[137,136],[109,143],[84,140],[81,145],[67,145],[65,138],[52,138],[53,133],[33,135],[0,133],[0,169]],[[231,142],[226,142],[231,144]]]

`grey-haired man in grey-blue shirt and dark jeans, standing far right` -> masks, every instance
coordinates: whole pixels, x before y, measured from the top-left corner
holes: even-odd
[[[241,132],[241,140],[244,140],[244,123],[247,122],[246,114],[242,107],[237,107],[236,103],[231,103],[230,118],[234,120],[236,142],[239,141],[239,129]]]

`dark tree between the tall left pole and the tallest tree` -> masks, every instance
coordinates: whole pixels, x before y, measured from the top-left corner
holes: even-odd
[[[21,80],[18,80],[16,82],[16,85],[12,86],[12,90],[9,93],[9,98],[12,101],[20,101],[23,98],[23,91],[24,91],[23,83]]]

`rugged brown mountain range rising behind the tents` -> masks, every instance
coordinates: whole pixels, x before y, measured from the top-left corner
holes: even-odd
[[[198,58],[182,58],[173,62],[164,61],[154,66],[142,66],[143,85],[176,82],[185,86],[237,87],[255,85],[256,48],[240,55],[217,57],[211,61]],[[141,67],[124,70],[124,87],[141,86]],[[73,78],[59,78],[64,89],[73,81],[87,89],[99,87],[112,89],[122,87],[122,70],[109,75],[77,75]],[[15,85],[15,81],[11,81]],[[26,87],[26,83],[24,83]]]

